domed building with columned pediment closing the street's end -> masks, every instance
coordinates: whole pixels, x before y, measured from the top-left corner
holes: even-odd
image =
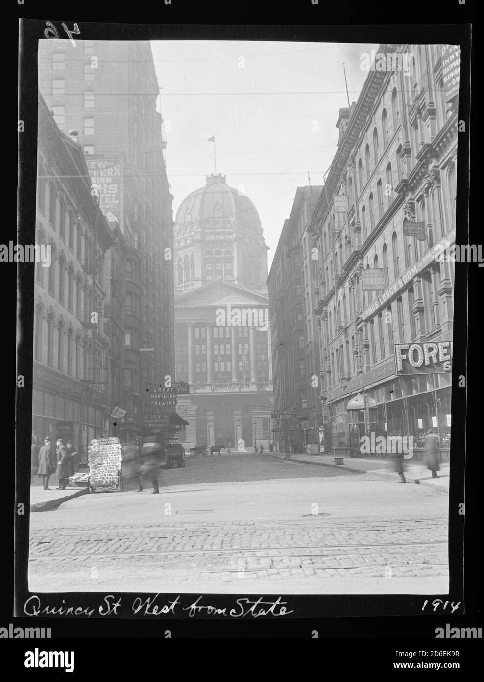
[[[174,226],[177,411],[185,447],[267,451],[272,361],[268,246],[251,199],[208,175],[184,198]]]

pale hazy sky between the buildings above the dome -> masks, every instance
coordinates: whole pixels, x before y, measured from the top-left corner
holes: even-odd
[[[321,185],[336,151],[338,111],[357,99],[374,44],[244,41],[151,43],[174,214],[216,170],[255,203],[272,262],[295,190]],[[204,93],[204,94],[199,94]],[[275,93],[275,94],[271,94]]]

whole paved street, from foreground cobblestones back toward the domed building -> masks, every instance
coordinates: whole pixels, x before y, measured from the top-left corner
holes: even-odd
[[[130,490],[131,488],[131,490]],[[31,591],[436,593],[447,496],[255,454],[31,516]]]

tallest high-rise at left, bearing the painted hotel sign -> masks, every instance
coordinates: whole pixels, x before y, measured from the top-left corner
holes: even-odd
[[[40,40],[39,89],[59,128],[77,132],[117,235],[105,282],[116,330],[108,392],[126,414],[110,430],[129,441],[142,432],[146,389],[174,374],[172,195],[150,44]]]

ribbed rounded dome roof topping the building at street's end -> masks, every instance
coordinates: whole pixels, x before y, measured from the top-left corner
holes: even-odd
[[[261,221],[252,201],[225,184],[225,175],[207,175],[204,187],[184,198],[175,220],[175,235],[180,228],[233,228],[261,234]]]

